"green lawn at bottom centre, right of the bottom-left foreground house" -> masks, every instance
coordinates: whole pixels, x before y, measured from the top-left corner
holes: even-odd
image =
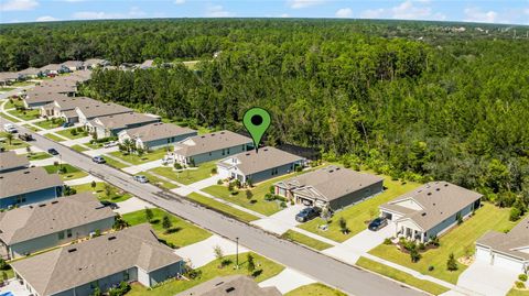
[[[213,250],[212,250],[213,252]],[[278,275],[280,272],[283,271],[283,266],[270,261],[259,254],[251,253],[253,256],[253,262],[256,264],[256,271],[260,271],[256,273],[255,281],[262,282],[268,279],[272,276]],[[248,275],[247,268],[247,253],[239,254],[239,268],[234,268],[235,265],[235,255],[225,256],[225,261],[229,262],[229,265],[225,267],[220,266],[220,261],[215,260],[209,262],[208,264],[197,268],[201,272],[201,275],[192,281],[173,281],[169,282],[164,285],[155,287],[153,289],[148,289],[142,285],[133,284],[132,290],[127,294],[127,296],[166,296],[166,295],[175,295],[188,288],[192,288],[198,284],[213,279],[217,276],[227,276],[233,274],[244,274]]]

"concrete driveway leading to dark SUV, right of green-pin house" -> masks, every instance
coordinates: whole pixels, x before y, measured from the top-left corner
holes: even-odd
[[[305,208],[303,205],[289,206],[288,208],[280,210],[272,216],[252,221],[250,223],[281,235],[289,229],[300,224],[300,222],[295,221],[295,215],[303,208]]]

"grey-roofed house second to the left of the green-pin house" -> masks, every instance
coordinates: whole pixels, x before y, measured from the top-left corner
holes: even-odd
[[[129,139],[139,149],[159,149],[196,135],[196,131],[172,123],[150,123],[139,128],[122,130],[118,133],[119,142]]]

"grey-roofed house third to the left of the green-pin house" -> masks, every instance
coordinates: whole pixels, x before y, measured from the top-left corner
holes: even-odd
[[[160,122],[160,117],[137,112],[127,112],[106,117],[97,117],[93,120],[89,120],[86,127],[90,132],[96,132],[97,138],[100,139],[118,135],[120,131],[126,129],[133,129],[154,122]]]

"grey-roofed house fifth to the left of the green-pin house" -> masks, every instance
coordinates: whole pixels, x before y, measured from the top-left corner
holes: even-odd
[[[48,118],[63,118],[67,122],[75,123],[79,121],[79,116],[75,111],[76,107],[96,106],[100,101],[87,97],[61,97],[53,102],[41,106],[41,116]]]

